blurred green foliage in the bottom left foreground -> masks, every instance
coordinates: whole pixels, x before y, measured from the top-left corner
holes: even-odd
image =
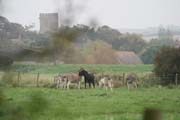
[[[0,90],[0,119],[1,120],[34,120],[48,108],[48,101],[42,92],[31,92],[26,96],[26,101],[14,101],[11,96],[6,96]]]

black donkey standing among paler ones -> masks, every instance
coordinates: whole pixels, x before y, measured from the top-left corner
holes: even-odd
[[[80,69],[79,71],[79,76],[83,76],[85,80],[85,88],[86,88],[86,83],[89,84],[89,88],[91,88],[91,83],[93,84],[93,87],[95,88],[95,80],[94,80],[94,74],[88,73],[86,70],[83,68]]]

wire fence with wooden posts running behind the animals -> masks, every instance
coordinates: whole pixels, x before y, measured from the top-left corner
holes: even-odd
[[[43,73],[23,73],[23,72],[1,72],[0,81],[1,84],[11,84],[15,87],[53,87],[54,76],[58,74],[43,74]],[[95,81],[98,81],[103,77],[109,77],[114,81],[114,87],[126,86],[126,78],[129,73],[122,74],[95,74]],[[179,74],[166,74],[162,76],[156,76],[155,73],[146,74],[133,74],[137,78],[139,86],[153,86],[153,85],[167,85],[180,84]],[[83,82],[83,81],[82,81]]]

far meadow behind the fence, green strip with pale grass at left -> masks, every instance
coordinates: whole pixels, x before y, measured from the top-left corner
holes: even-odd
[[[50,86],[53,84],[55,75],[64,73],[78,73],[83,67],[89,72],[95,73],[96,76],[115,75],[123,76],[130,73],[136,73],[139,76],[145,76],[153,71],[153,65],[87,65],[87,64],[14,64],[5,76],[12,76],[16,84],[20,86],[37,86],[37,75],[40,74],[38,84],[40,86]],[[21,73],[18,80],[18,72]],[[0,79],[4,72],[0,72]],[[122,78],[121,78],[122,80]]]

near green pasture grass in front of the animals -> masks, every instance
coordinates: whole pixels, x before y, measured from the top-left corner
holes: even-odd
[[[47,102],[42,102],[46,107],[30,120],[142,120],[145,108],[160,109],[163,120],[180,119],[180,88],[139,88],[135,91],[121,88],[113,92],[103,89],[4,89],[12,106],[28,103],[34,92],[40,93]],[[33,106],[32,111],[36,109]]]

